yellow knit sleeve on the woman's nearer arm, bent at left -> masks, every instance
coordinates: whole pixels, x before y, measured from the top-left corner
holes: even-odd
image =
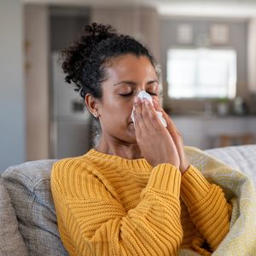
[[[93,166],[61,160],[51,189],[61,240],[70,255],[176,255],[183,239],[175,166],[155,166],[137,207],[125,212]]]

